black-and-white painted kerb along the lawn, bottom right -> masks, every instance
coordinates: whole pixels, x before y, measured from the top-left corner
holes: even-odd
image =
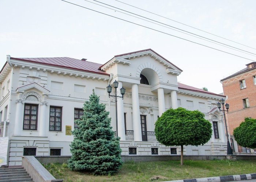
[[[218,176],[209,178],[196,178],[196,179],[183,179],[174,180],[167,182],[225,182],[225,181],[253,181],[256,182],[256,173],[253,174],[241,174],[241,175],[230,175],[230,176]]]

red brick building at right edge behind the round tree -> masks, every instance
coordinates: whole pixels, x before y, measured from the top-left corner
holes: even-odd
[[[256,62],[246,64],[246,68],[222,79],[221,82],[223,93],[227,96],[226,103],[229,104],[227,114],[229,133],[234,139],[233,130],[244,121],[245,117],[256,118]],[[240,153],[254,152],[237,146],[235,141],[234,150]]]

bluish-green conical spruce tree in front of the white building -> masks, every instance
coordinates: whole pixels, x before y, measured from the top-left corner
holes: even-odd
[[[72,131],[74,140],[70,145],[72,157],[68,167],[101,175],[116,173],[123,164],[120,138],[114,137],[109,112],[104,104],[99,103],[99,96],[94,90],[89,101],[84,103],[83,110],[82,118],[75,121],[78,128]]]

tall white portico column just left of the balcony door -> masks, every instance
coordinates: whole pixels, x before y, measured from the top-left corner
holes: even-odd
[[[132,84],[132,126],[134,141],[142,141],[138,85]]]

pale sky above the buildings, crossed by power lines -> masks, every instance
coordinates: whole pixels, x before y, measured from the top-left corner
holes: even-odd
[[[114,55],[151,48],[183,70],[178,82],[206,87],[219,94],[223,92],[221,79],[256,61],[255,0],[97,0],[112,7],[94,0],[67,1],[119,19],[61,0],[1,0],[0,67],[6,62],[6,55],[85,58],[104,64]],[[113,7],[160,23],[120,13],[124,11]],[[172,27],[218,41],[226,47],[174,31]]]

